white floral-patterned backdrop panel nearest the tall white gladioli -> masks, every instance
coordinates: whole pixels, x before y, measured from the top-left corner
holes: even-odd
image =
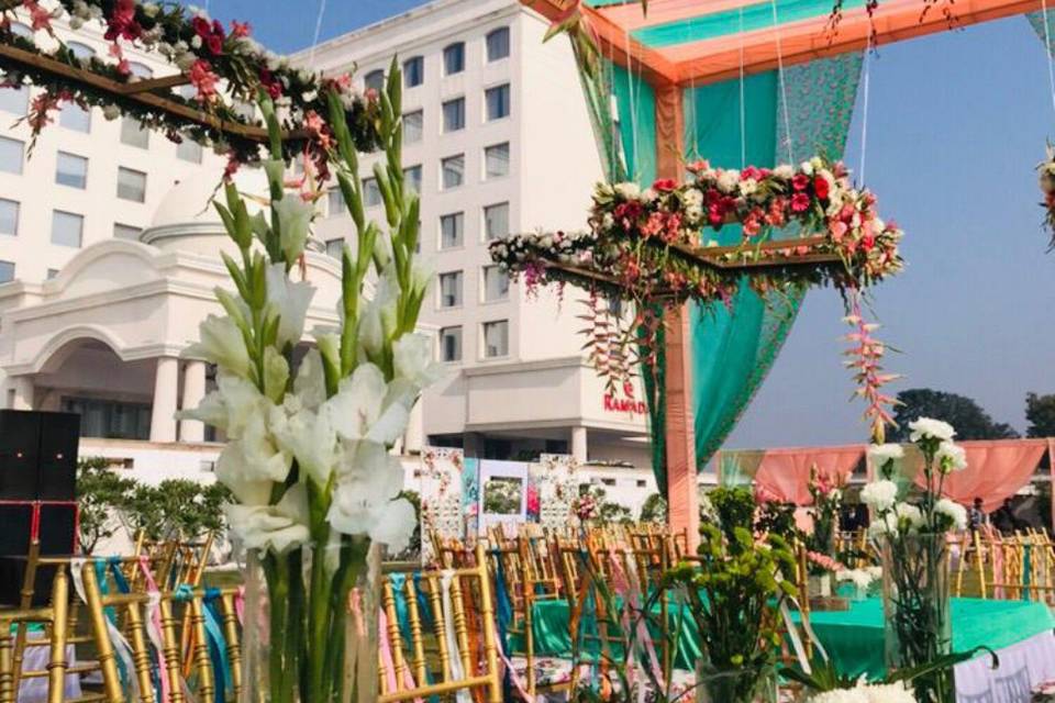
[[[477,461],[462,449],[425,447],[419,478],[421,560],[427,565],[434,557],[432,535],[464,542],[476,532]]]

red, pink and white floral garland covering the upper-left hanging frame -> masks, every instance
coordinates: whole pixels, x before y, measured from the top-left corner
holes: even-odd
[[[20,20],[16,12],[29,19],[35,32],[49,35],[45,45],[56,45],[57,48],[38,46],[35,41],[15,34],[11,23]],[[97,23],[111,43],[109,60],[75,56],[55,34],[53,23],[58,20],[65,20],[74,31]],[[232,22],[230,27],[224,27],[204,11],[177,2],[57,0],[55,9],[46,10],[38,0],[0,0],[0,43],[122,83],[140,80],[132,74],[124,56],[125,47],[131,45],[156,52],[184,74],[195,88],[192,98],[168,91],[164,93],[165,99],[203,111],[223,122],[259,126],[258,121],[240,114],[234,101],[255,103],[259,93],[266,93],[280,108],[284,115],[280,126],[287,132],[299,133],[299,138],[282,142],[285,156],[303,154],[322,176],[329,172],[326,149],[333,144],[333,130],[326,120],[326,93],[330,90],[336,90],[342,97],[345,121],[356,147],[374,150],[379,146],[380,107],[373,91],[365,96],[354,93],[349,75],[323,78],[311,70],[296,68],[287,58],[266,51],[251,33],[247,23]],[[10,57],[0,56],[0,69],[5,74],[5,86],[30,83],[43,89],[26,118],[34,141],[52,121],[54,110],[64,102],[74,102],[85,109],[100,108],[107,119],[135,118],[177,143],[190,138],[211,146],[227,155],[229,172],[233,172],[238,164],[257,161],[262,155],[267,157],[263,154],[266,145],[259,141],[201,125],[162,108],[144,104],[131,96],[59,77]]]

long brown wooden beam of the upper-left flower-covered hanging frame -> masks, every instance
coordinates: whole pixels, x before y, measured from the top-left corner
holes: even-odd
[[[0,58],[7,59],[7,62],[15,65],[32,67],[73,82],[84,83],[103,92],[134,100],[155,110],[160,110],[177,116],[186,122],[211,127],[224,134],[231,134],[253,142],[266,143],[268,141],[267,130],[264,127],[222,120],[204,110],[196,110],[195,108],[149,92],[151,89],[160,87],[160,83],[165,86],[180,85],[178,82],[171,82],[175,80],[175,77],[144,80],[137,83],[123,83],[106,76],[100,76],[91,70],[76,68],[48,56],[26,52],[7,44],[0,44]],[[138,88],[142,83],[148,83],[147,88]],[[309,134],[306,130],[295,130],[285,133],[284,136],[286,138],[307,138]]]

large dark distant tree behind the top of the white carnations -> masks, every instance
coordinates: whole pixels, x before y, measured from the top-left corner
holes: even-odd
[[[944,420],[956,428],[957,439],[1014,439],[1019,433],[1011,425],[993,422],[977,402],[965,395],[912,388],[898,393],[893,413],[897,426],[887,433],[889,442],[908,442],[909,423],[918,417]]]

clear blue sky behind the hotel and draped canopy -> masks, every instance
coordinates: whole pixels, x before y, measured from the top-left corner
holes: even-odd
[[[921,0],[922,1],[922,0]],[[322,38],[421,4],[329,0]],[[314,0],[212,0],[279,52],[311,43]],[[578,94],[568,96],[578,100]],[[862,105],[846,160],[860,158]],[[1028,391],[1055,392],[1055,254],[1033,166],[1055,140],[1041,42],[1024,18],[880,48],[871,62],[867,185],[907,233],[908,269],[875,291],[888,359],[907,379],[978,400],[1024,429]],[[863,442],[842,368],[842,303],[811,292],[784,353],[729,446]]]

